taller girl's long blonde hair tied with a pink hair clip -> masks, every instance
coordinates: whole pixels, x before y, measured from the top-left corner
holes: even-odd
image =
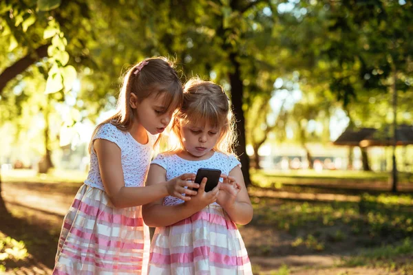
[[[147,58],[127,71],[116,103],[116,113],[96,126],[92,140],[99,127],[106,123],[113,124],[121,131],[131,128],[135,119],[134,110],[129,104],[131,93],[136,95],[138,102],[149,98],[153,93],[156,93],[156,97],[165,94],[166,110],[179,108],[183,100],[182,83],[173,63],[165,57]],[[89,153],[92,140],[89,143]]]

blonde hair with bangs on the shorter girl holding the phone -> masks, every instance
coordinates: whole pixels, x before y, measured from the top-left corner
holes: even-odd
[[[235,122],[224,89],[211,81],[191,78],[184,85],[184,101],[173,117],[172,139],[178,140],[170,146],[168,153],[184,150],[180,127],[189,123],[197,124],[207,120],[211,126],[220,128],[220,137],[213,147],[214,151],[235,155]]]

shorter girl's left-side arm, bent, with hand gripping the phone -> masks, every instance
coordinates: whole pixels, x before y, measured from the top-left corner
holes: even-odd
[[[151,164],[147,179],[147,186],[158,186],[167,178],[167,171],[158,164]],[[168,226],[182,219],[191,217],[196,212],[205,208],[209,203],[216,201],[219,186],[216,186],[210,192],[204,192],[207,178],[202,179],[198,194],[191,197],[190,201],[177,204],[175,206],[163,206],[163,199],[158,199],[142,206],[142,217],[145,223],[151,227]]]

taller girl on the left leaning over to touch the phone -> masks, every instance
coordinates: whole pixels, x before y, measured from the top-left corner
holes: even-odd
[[[187,201],[198,186],[178,175],[143,187],[156,134],[182,103],[178,75],[165,58],[129,69],[117,112],[89,145],[90,170],[63,221],[53,274],[146,274],[149,230],[140,206],[173,195]]]

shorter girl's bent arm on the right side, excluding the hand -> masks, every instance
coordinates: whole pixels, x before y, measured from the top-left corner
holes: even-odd
[[[253,219],[253,206],[246,191],[244,176],[240,166],[235,166],[229,173],[229,176],[235,179],[241,190],[233,203],[223,203],[221,206],[234,223],[247,224]]]

